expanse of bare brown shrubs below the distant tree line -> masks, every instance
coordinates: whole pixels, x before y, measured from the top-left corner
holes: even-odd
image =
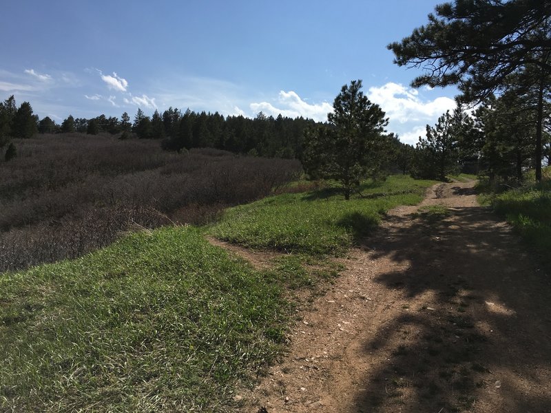
[[[0,162],[0,271],[78,257],[132,228],[204,224],[298,177],[295,160],[151,140],[41,135]]]

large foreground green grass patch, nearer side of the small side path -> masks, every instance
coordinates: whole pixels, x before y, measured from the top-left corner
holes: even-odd
[[[220,410],[280,350],[281,279],[192,228],[0,275],[0,410]]]

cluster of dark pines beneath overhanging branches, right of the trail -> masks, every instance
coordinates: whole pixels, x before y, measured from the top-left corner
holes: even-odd
[[[426,126],[426,138],[419,137],[410,151],[411,173],[444,180],[446,174],[461,170],[492,181],[522,182],[526,171],[542,160],[551,165],[551,100],[544,100],[541,140],[533,103],[529,94],[517,89],[488,96],[470,113],[458,103],[436,125]]]

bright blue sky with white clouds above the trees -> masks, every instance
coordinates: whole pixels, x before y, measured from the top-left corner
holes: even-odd
[[[386,50],[439,0],[12,1],[0,27],[0,99],[41,118],[134,117],[169,106],[326,120],[342,85],[414,143],[457,90],[411,89]]]

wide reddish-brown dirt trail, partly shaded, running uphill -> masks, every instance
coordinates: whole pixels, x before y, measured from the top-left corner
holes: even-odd
[[[551,412],[551,279],[472,184],[391,211],[240,411]]]

